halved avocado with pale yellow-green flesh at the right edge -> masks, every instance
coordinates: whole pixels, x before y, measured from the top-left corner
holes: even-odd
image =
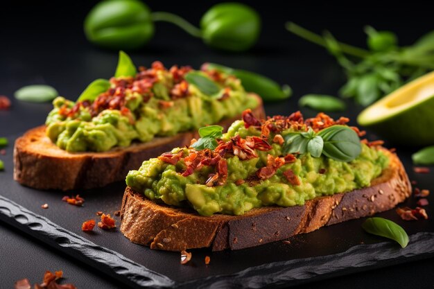
[[[434,144],[434,71],[367,107],[357,122],[393,143]]]

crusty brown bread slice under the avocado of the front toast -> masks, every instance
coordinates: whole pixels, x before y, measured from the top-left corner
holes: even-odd
[[[284,240],[322,226],[371,216],[392,209],[411,193],[410,181],[397,155],[381,150],[390,164],[367,188],[315,198],[303,206],[252,209],[243,216],[199,216],[192,209],[157,204],[127,187],[120,229],[132,242],[151,249],[211,247],[220,251]]]

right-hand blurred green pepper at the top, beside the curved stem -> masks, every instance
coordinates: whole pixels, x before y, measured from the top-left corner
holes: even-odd
[[[261,17],[242,3],[219,3],[200,20],[202,40],[227,51],[250,49],[261,33]]]

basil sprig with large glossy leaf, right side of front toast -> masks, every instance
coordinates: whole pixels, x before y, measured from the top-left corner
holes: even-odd
[[[336,161],[348,162],[361,153],[358,135],[345,125],[333,125],[317,134],[311,128],[307,132],[290,132],[284,139],[284,154],[309,152],[312,157],[323,154]]]

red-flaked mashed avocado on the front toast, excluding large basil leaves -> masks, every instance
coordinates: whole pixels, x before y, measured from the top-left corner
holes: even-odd
[[[216,148],[175,148],[144,161],[139,170],[130,170],[126,183],[150,200],[192,207],[202,216],[302,205],[322,195],[370,186],[388,166],[388,157],[360,141],[357,134],[361,133],[347,127],[347,121],[333,121],[325,114],[303,120],[300,112],[258,121],[246,111],[243,120],[233,123],[217,140]],[[351,161],[327,157],[326,134],[324,151],[317,157],[310,152],[286,153],[291,133],[321,134],[331,127],[356,134],[358,151]]]

